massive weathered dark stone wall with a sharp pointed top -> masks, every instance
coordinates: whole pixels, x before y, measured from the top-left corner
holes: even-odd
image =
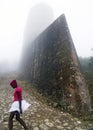
[[[36,83],[42,92],[65,109],[74,112],[90,109],[88,88],[65,15],[27,46],[22,72],[26,79]]]

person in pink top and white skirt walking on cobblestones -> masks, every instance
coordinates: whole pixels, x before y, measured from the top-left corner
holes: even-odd
[[[28,130],[25,122],[22,118],[20,118],[20,114],[22,114],[29,106],[30,104],[23,100],[22,98],[22,88],[17,85],[16,80],[12,80],[10,82],[10,86],[12,86],[14,90],[14,99],[13,103],[11,105],[11,108],[9,110],[10,116],[9,116],[9,130],[13,129],[13,118],[16,117],[16,120],[24,127],[25,130]]]

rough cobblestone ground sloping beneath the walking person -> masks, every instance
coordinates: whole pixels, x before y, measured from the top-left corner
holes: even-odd
[[[8,126],[9,108],[12,102],[13,89],[10,87],[11,78],[0,78],[0,126]],[[22,115],[29,130],[89,130],[93,124],[84,123],[68,113],[58,111],[44,103],[42,96],[30,90],[30,85],[22,81],[18,83],[23,87],[23,97],[31,106]],[[13,130],[24,130],[14,119]]]

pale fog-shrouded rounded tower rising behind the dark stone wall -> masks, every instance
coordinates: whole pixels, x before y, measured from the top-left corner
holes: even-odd
[[[53,10],[48,4],[38,3],[33,6],[27,18],[24,31],[24,44],[31,43],[53,21]]]

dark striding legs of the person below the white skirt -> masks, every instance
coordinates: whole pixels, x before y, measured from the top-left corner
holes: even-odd
[[[24,127],[25,130],[28,130],[25,122],[20,118],[20,114],[18,111],[14,111],[10,113],[10,117],[9,117],[9,130],[13,129],[13,118],[14,116],[16,116],[16,120]]]

